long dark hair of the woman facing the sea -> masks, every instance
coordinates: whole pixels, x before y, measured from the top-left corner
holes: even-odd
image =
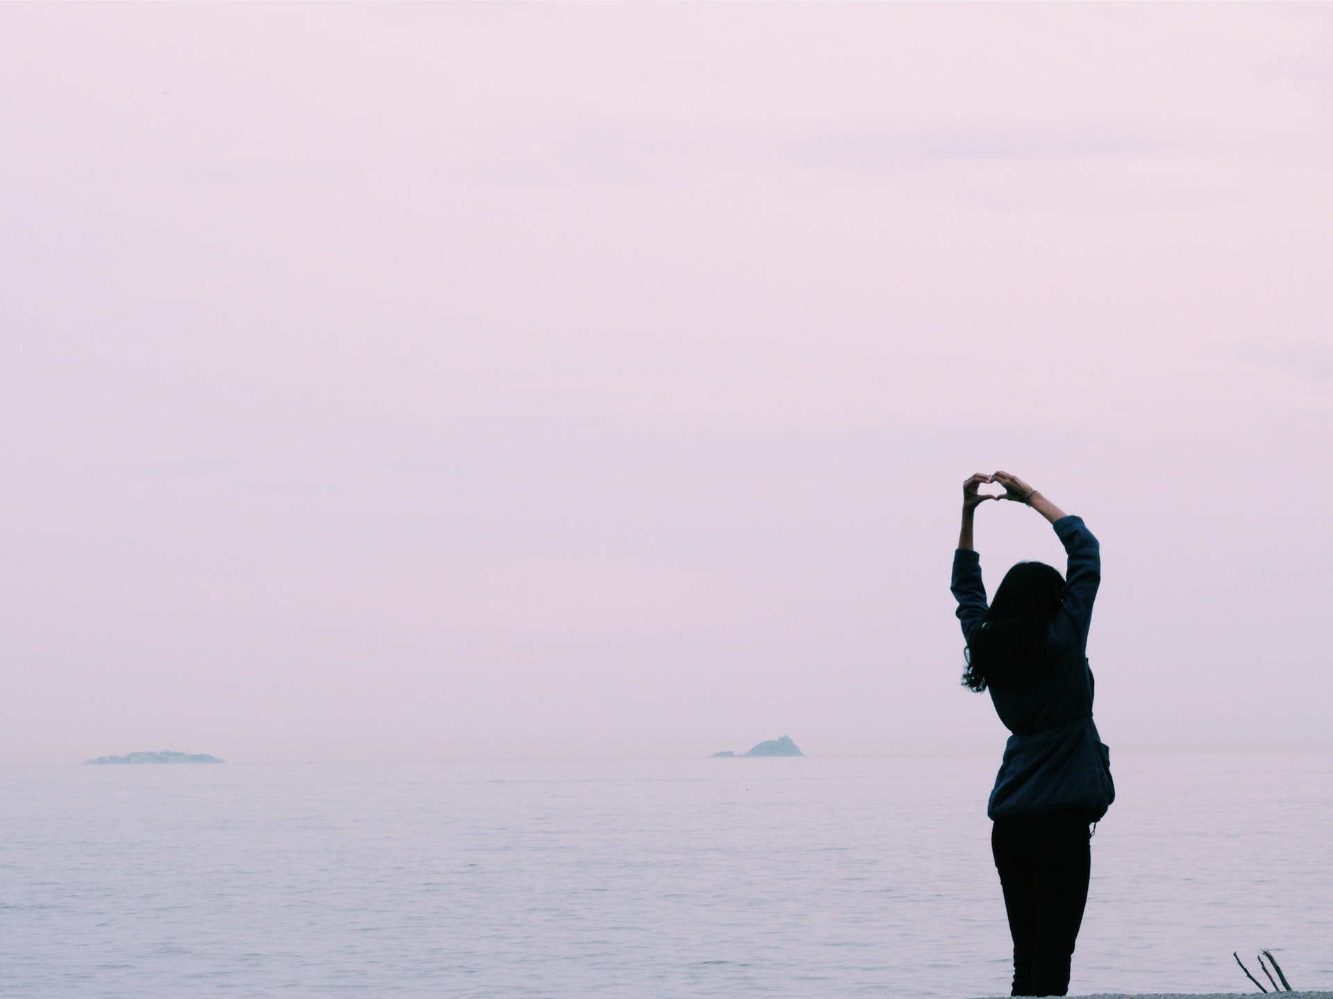
[[[1060,611],[1065,579],[1044,562],[1020,562],[1005,574],[990,610],[968,636],[962,686],[978,694],[1022,690],[1046,671],[1050,622]]]

